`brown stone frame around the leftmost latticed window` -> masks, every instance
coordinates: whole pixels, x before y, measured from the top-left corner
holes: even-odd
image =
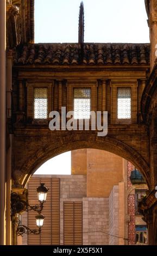
[[[31,120],[32,123],[45,123],[47,121],[49,113],[52,111],[53,106],[53,83],[48,82],[27,82],[27,120]],[[34,118],[34,89],[35,88],[47,88],[47,119],[35,119]]]

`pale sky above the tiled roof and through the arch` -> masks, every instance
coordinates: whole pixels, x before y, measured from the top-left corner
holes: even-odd
[[[80,0],[35,0],[35,42],[78,42]],[[84,0],[85,42],[149,42],[144,0]],[[35,174],[71,174],[71,152]]]

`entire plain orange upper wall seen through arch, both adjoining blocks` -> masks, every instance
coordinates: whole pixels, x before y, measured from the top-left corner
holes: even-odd
[[[123,181],[123,159],[98,149],[71,153],[72,174],[87,174],[87,197],[109,197],[112,187]]]

